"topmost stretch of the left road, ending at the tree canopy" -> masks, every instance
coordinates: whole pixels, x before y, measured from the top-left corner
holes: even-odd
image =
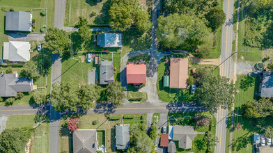
[[[65,0],[55,0],[54,27],[64,29]]]

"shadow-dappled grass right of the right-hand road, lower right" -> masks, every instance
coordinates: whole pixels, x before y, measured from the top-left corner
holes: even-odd
[[[235,111],[234,113],[242,115],[242,104],[249,100],[258,99],[256,95],[258,93],[259,79],[255,77],[247,77],[242,75],[238,77],[236,81],[236,88],[239,91],[235,96]],[[254,133],[263,133],[257,125],[266,127],[273,124],[273,118],[259,118],[258,120],[249,120],[242,116],[235,115],[234,126],[242,124],[242,129],[236,129],[233,131],[233,152],[252,152],[252,136]]]

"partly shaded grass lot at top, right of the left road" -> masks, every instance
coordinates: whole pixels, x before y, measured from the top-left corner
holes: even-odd
[[[79,16],[86,17],[88,24],[109,24],[110,0],[68,0],[65,8],[65,26],[75,26]],[[93,15],[95,13],[95,15]]]

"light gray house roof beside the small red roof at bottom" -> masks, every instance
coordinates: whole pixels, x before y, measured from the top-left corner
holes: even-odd
[[[182,149],[191,149],[192,141],[196,137],[197,131],[192,126],[173,126],[173,140],[178,140],[178,147]]]

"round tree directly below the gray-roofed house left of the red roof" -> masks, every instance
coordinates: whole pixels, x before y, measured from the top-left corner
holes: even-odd
[[[123,92],[124,90],[125,88],[123,88],[123,86],[121,86],[121,83],[118,81],[115,81],[114,83],[109,84],[107,88],[108,102],[116,104],[117,106],[122,106],[125,99],[125,94]]]

